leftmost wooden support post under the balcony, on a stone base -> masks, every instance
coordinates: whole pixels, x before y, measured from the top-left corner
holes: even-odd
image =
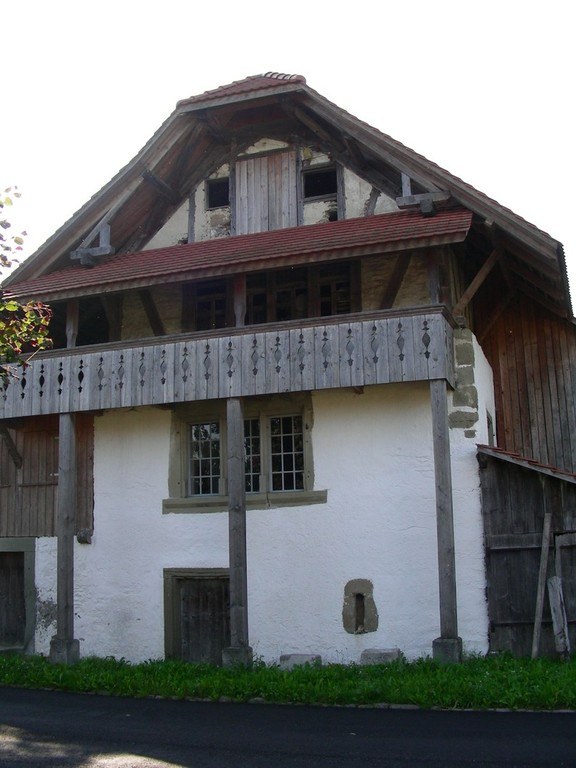
[[[60,415],[58,441],[58,536],[56,635],[50,643],[50,661],[73,664],[80,658],[74,639],[74,525],[76,512],[76,433],[74,416]]]

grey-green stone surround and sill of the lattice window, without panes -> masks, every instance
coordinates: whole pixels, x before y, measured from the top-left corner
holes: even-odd
[[[272,490],[270,419],[282,416],[301,416],[303,423],[304,488],[302,490]],[[246,494],[248,509],[300,506],[325,503],[327,492],[314,490],[314,463],[312,455],[313,414],[310,395],[280,395],[273,398],[250,398],[244,403],[244,420],[260,422],[259,490]],[[188,425],[219,422],[220,424],[220,481],[218,494],[186,495],[188,478]],[[163,512],[222,512],[228,509],[226,462],[226,404],[225,401],[198,403],[176,409],[172,424],[169,495],[162,503]]]

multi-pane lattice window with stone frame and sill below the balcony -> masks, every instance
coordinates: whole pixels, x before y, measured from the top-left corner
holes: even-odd
[[[244,404],[247,506],[262,508],[326,501],[314,491],[309,395],[250,398]],[[170,496],[164,511],[227,504],[224,401],[177,409],[172,437]]]

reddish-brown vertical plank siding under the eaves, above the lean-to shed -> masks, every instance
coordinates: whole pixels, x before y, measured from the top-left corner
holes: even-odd
[[[576,471],[576,329],[517,297],[482,341],[494,373],[498,445]]]

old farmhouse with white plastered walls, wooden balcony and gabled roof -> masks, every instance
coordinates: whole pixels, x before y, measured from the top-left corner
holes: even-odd
[[[562,246],[303,77],[179,102],[4,292],[53,349],[0,379],[0,648],[574,642]]]

